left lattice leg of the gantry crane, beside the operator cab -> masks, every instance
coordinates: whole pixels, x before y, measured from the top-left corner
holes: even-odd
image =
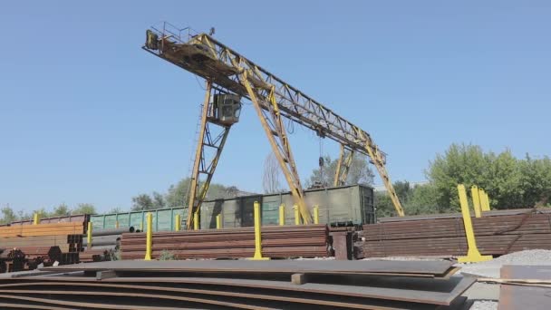
[[[201,111],[198,145],[193,162],[193,171],[191,172],[191,183],[189,185],[187,229],[193,228],[193,215],[199,212],[201,204],[207,196],[208,186],[210,185],[214,171],[217,169],[218,160],[231,128],[230,125],[215,124],[208,117],[212,112],[212,107],[209,104],[211,92],[212,83],[207,81],[205,102],[203,102],[203,109]],[[218,134],[212,135],[210,126],[219,126],[221,127],[221,131]],[[214,150],[214,154],[210,155],[212,157],[210,160],[207,159],[209,154],[205,151],[205,148]]]

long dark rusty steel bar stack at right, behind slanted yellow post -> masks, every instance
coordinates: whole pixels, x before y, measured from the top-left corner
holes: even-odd
[[[484,212],[472,218],[478,250],[499,256],[526,249],[551,249],[551,211],[530,208]],[[439,256],[467,254],[459,215],[389,219],[365,225],[354,244],[356,257]]]

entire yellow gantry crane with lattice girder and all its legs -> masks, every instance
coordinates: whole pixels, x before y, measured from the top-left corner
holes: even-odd
[[[193,227],[194,218],[198,218],[194,215],[198,214],[206,198],[229,130],[239,121],[240,101],[244,99],[252,102],[255,108],[304,223],[311,223],[312,217],[304,203],[304,190],[284,119],[341,144],[334,177],[336,186],[346,179],[354,153],[367,155],[379,172],[397,214],[404,215],[385,168],[386,154],[373,142],[369,133],[352,122],[221,44],[211,34],[192,34],[189,27],[178,29],[164,23],[162,28],[151,27],[146,31],[146,43],[142,48],[206,80],[189,189],[188,229]]]

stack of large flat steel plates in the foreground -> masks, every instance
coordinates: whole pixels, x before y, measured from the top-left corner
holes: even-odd
[[[443,261],[114,261],[0,276],[0,306],[450,309],[474,282],[456,270]]]

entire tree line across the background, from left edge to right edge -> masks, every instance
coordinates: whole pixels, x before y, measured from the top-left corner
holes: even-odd
[[[305,187],[321,184],[331,187],[337,167],[336,159],[325,156],[323,166],[314,169]],[[286,191],[281,186],[274,158],[266,159],[263,188],[266,193]],[[531,208],[550,206],[551,203],[551,160],[548,157],[532,158],[528,154],[517,159],[510,150],[499,153],[484,151],[477,145],[452,144],[443,154],[437,154],[424,170],[426,184],[412,186],[407,181],[396,181],[394,189],[406,215],[447,213],[459,211],[457,185],[464,184],[468,189],[477,185],[485,189],[491,208]],[[362,155],[353,159],[345,184],[372,185],[374,174],[369,160]],[[165,193],[153,191],[131,199],[131,210],[155,208],[181,208],[188,205],[189,178],[171,185]],[[207,199],[228,199],[243,196],[245,193],[235,186],[212,183],[208,188]],[[378,217],[394,216],[391,199],[386,192],[375,192],[375,208]],[[112,208],[109,213],[124,212]],[[77,204],[70,208],[62,203],[52,211],[44,208],[30,213],[14,212],[10,206],[0,208],[0,224],[21,219],[33,218],[37,212],[41,218],[67,216],[71,214],[95,214],[90,203]]]

